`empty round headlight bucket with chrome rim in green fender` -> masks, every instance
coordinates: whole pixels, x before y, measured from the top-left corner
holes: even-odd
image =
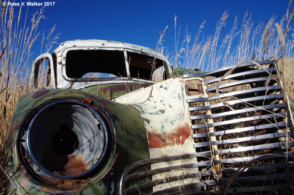
[[[87,104],[57,100],[42,107],[22,144],[39,175],[72,179],[95,169],[106,153],[106,125]]]

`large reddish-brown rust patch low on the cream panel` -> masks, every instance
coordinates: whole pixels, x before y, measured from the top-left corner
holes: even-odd
[[[174,145],[183,145],[185,140],[191,135],[191,129],[188,123],[179,125],[168,134],[162,134],[159,131],[148,132],[149,148],[166,148]]]

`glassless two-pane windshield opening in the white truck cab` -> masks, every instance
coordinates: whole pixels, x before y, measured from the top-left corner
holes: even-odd
[[[127,51],[131,78],[161,81],[165,77],[163,60]],[[66,54],[68,78],[128,77],[123,51],[71,50]]]

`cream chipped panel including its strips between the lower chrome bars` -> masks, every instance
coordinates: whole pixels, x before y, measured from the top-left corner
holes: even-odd
[[[195,153],[184,85],[183,78],[168,79],[115,99],[132,105],[140,113],[146,128],[150,158]],[[197,163],[197,158],[153,163],[152,170],[169,166],[179,166],[179,169],[155,174],[152,180],[198,172],[198,167],[180,168],[181,165],[190,163]],[[166,181],[154,186],[153,192],[195,182],[199,182],[199,178]]]

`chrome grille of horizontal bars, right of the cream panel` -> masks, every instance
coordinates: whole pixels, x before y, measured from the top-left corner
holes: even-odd
[[[236,193],[273,191],[293,178],[293,172],[288,171],[293,162],[293,131],[289,130],[289,107],[283,100],[279,68],[274,61],[259,64],[265,68],[241,64],[221,82],[233,66],[203,73],[206,93],[187,100],[193,147],[201,156],[197,160],[216,161],[208,167],[199,166],[199,170],[217,169],[213,178],[224,184],[240,168],[243,171],[228,188]],[[204,99],[205,105],[199,106]],[[250,169],[245,171],[249,164]],[[221,189],[219,184],[208,186],[218,192],[226,188],[223,185]]]

